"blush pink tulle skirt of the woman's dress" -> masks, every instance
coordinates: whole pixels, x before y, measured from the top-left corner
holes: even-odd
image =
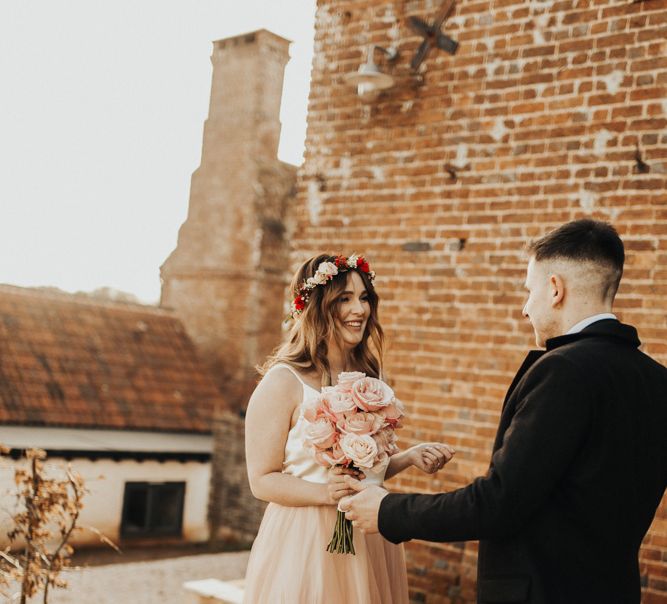
[[[336,508],[270,503],[252,546],[245,604],[407,604],[403,546],[354,532],[356,555],[326,551]]]

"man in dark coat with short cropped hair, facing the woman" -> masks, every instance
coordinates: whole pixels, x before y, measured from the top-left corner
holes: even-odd
[[[438,495],[359,491],[341,508],[394,543],[479,540],[479,602],[638,603],[638,550],[667,484],[667,369],[611,314],[623,243],[570,222],[530,248],[537,345],[485,476]]]

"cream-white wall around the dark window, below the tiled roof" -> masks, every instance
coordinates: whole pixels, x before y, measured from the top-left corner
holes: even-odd
[[[14,468],[19,463],[7,457],[0,462],[0,548],[9,545],[7,532],[11,530],[10,513],[16,509],[16,485]],[[53,458],[48,465],[57,471],[66,466],[63,459]],[[120,542],[120,525],[123,511],[123,493],[126,482],[185,482],[183,504],[183,539],[197,542],[208,539],[207,508],[211,476],[210,462],[178,461],[91,461],[85,458],[72,460],[73,469],[85,481],[89,493],[84,497],[80,526],[92,526]],[[99,537],[91,531],[77,531],[72,544],[99,544]]]

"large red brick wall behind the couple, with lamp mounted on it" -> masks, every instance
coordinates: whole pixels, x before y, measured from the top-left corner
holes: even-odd
[[[460,0],[445,26],[458,54],[432,52],[416,77],[406,18],[436,9],[318,2],[293,236],[295,262],[323,249],[372,260],[388,371],[411,413],[402,442],[458,450],[442,478],[391,486],[432,492],[487,468],[533,343],[527,240],[583,216],[615,224],[628,252],[616,310],[667,363],[667,0]],[[401,56],[382,65],[395,88],[363,104],[342,76],[369,43]],[[413,599],[474,601],[475,557],[475,543],[410,544]],[[641,574],[644,601],[667,602],[664,502]]]

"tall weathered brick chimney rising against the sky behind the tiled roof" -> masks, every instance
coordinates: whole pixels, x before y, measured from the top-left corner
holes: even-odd
[[[160,305],[176,310],[230,410],[245,408],[255,365],[280,340],[296,173],[276,158],[289,44],[266,30],[214,42],[201,165],[161,267]]]

